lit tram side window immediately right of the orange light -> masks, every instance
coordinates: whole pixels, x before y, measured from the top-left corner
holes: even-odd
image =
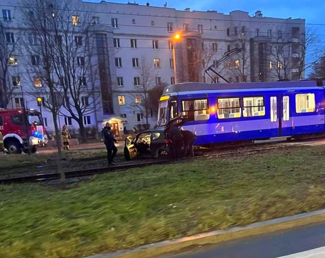
[[[241,117],[239,98],[218,99],[218,118]]]

